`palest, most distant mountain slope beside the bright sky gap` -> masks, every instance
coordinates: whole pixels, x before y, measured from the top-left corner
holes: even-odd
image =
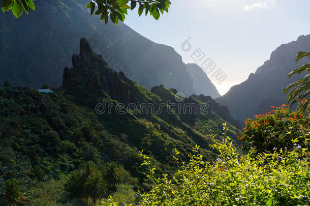
[[[213,99],[221,96],[207,74],[197,64],[187,64],[186,70],[193,79],[195,94],[211,96]]]

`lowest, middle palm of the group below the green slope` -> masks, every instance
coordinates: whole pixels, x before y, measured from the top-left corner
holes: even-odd
[[[96,204],[97,199],[103,198],[107,192],[107,185],[101,175],[90,176],[85,183],[85,194]]]

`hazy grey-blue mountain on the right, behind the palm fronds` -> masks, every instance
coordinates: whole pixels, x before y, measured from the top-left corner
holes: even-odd
[[[288,78],[288,73],[306,63],[305,59],[295,62],[299,51],[310,51],[310,35],[302,35],[296,41],[278,47],[255,74],[251,73],[246,81],[231,87],[216,101],[227,106],[232,117],[241,121],[265,113],[270,106],[286,103],[283,90],[302,77],[300,74]]]

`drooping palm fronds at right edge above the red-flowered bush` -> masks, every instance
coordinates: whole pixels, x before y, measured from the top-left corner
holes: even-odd
[[[296,62],[298,62],[303,57],[310,57],[310,52],[298,52],[296,56]],[[291,105],[295,104],[299,100],[303,100],[303,103],[300,105],[302,111],[309,110],[310,102],[310,64],[302,65],[291,71],[289,73],[289,78],[294,74],[300,74],[302,72],[307,72],[307,74],[299,79],[298,81],[288,85],[284,93],[286,94],[290,89],[294,88],[287,96],[287,101],[291,102]]]

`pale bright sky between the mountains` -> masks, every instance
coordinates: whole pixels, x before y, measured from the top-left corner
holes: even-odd
[[[184,63],[211,60],[214,66],[206,72],[221,95],[255,73],[278,46],[310,34],[309,0],[171,2],[169,13],[159,20],[139,17],[135,9],[125,23],[156,43],[172,46]],[[223,72],[221,83],[217,71]]]

